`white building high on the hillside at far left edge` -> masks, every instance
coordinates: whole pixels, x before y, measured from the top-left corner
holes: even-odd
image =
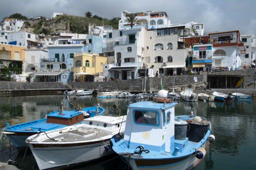
[[[20,28],[23,26],[24,21],[22,20],[8,20],[4,21],[3,25],[0,27],[0,31],[2,32],[12,32],[12,31],[20,31]]]

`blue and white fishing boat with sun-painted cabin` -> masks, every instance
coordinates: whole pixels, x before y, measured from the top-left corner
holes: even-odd
[[[128,106],[124,139],[111,139],[112,149],[128,169],[191,169],[203,160],[215,139],[210,121],[194,115],[174,117],[176,104],[138,102]]]

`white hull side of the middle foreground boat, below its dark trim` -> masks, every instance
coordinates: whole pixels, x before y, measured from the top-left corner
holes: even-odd
[[[107,145],[109,142],[105,142],[105,144]],[[40,170],[88,162],[114,153],[112,149],[107,152],[104,149],[104,143],[60,148],[54,145],[47,148],[36,148],[32,147],[32,144],[29,145]]]

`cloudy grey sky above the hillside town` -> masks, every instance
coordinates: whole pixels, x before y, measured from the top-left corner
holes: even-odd
[[[87,11],[102,18],[121,17],[122,11],[163,11],[171,23],[204,23],[204,31],[239,30],[256,34],[256,0],[1,0],[0,20],[20,13],[28,18],[53,12],[84,16]]]

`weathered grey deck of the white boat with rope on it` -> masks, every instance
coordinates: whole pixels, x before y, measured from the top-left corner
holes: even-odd
[[[92,128],[81,128],[74,131],[69,131],[67,133],[61,133],[54,136],[54,140],[46,139],[42,142],[52,143],[52,142],[81,142],[81,141],[90,141],[94,139],[99,139],[100,137],[105,137],[111,135],[112,133],[107,131],[102,131],[99,129]]]

